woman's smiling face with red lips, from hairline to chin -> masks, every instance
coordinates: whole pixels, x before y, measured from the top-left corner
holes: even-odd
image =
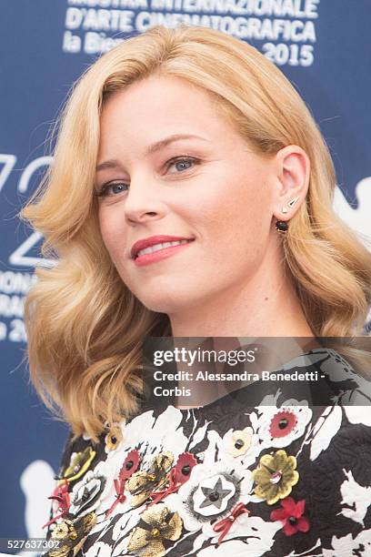
[[[150,76],[110,96],[97,168],[105,246],[148,309],[202,308],[246,286],[262,264],[276,234],[274,165],[202,88]],[[147,238],[161,249],[133,258],[135,242]],[[185,241],[161,245],[174,238]]]

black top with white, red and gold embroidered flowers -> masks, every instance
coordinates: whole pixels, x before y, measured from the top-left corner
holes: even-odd
[[[93,445],[65,446],[50,557],[366,557],[371,555],[371,383],[333,349],[204,407],[144,408]],[[297,383],[296,383],[297,386]],[[322,400],[323,401],[323,400]]]

